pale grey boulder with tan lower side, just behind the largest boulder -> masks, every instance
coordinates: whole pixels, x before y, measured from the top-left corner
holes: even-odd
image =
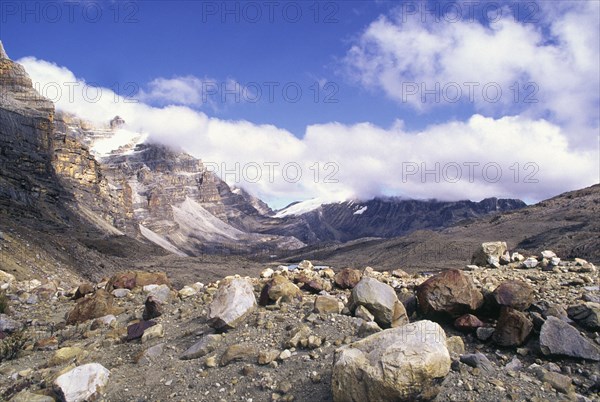
[[[363,277],[352,289],[348,309],[354,312],[358,306],[369,310],[382,328],[408,322],[406,309],[398,300],[394,288],[377,279]]]

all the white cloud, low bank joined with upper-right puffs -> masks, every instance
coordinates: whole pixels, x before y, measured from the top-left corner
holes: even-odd
[[[574,3],[545,9],[542,22],[554,17],[545,25],[424,23],[399,11],[373,21],[342,61],[367,90],[421,114],[451,103],[451,92],[440,102],[432,94],[423,102],[421,85],[450,91],[449,83],[464,90],[465,82],[479,88],[493,82],[504,91],[490,102],[478,89],[470,117],[421,130],[402,120],[390,127],[329,122],[307,126],[298,138],[273,125],[197,110],[202,79],[157,78],[131,102],[86,87],[66,67],[33,57],[18,62],[58,109],[97,123],[120,115],[129,130],[201,158],[228,183],[275,207],[378,195],[536,201],[599,180],[598,3]],[[515,102],[514,82],[535,83],[537,102]]]

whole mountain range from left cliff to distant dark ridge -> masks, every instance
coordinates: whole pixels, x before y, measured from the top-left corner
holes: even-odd
[[[0,206],[5,226],[12,222],[14,230],[35,231],[47,225],[48,233],[71,236],[67,243],[75,240],[87,251],[139,256],[127,251],[135,245],[133,249],[151,255],[269,260],[307,245],[437,230],[524,206],[519,200],[495,198],[376,198],[325,204],[313,200],[274,212],[242,188],[230,187],[201,160],[150,143],[146,134],[128,128],[126,116],[98,125],[56,113],[33,90],[22,66],[4,53],[0,63]],[[45,245],[38,238],[31,241]],[[57,244],[53,250],[58,249]],[[75,258],[76,265],[86,261],[87,251]]]

